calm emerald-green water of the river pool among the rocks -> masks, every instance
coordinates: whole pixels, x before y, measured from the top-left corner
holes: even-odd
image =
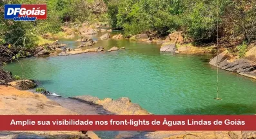
[[[70,48],[79,42],[61,40]],[[72,97],[129,97],[156,115],[233,115],[256,113],[256,82],[208,64],[210,55],[160,53],[159,45],[143,42],[99,41],[95,46],[126,50],[40,57],[8,64],[14,75],[39,80],[47,90]],[[22,68],[21,68],[22,66]]]

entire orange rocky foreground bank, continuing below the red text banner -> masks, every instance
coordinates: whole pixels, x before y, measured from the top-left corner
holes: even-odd
[[[73,98],[45,97],[10,86],[0,86],[1,115],[148,115],[145,109],[129,98],[112,100],[78,96]],[[95,132],[96,134],[99,132]],[[92,131],[1,131],[0,138],[99,138]],[[255,131],[104,131],[110,138],[255,138]],[[105,135],[104,135],[105,134]]]

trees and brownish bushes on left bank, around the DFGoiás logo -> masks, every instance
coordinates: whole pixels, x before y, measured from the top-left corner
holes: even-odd
[[[5,4],[46,4],[47,19],[35,22],[14,22],[4,19]],[[99,8],[100,7],[100,8]],[[12,44],[31,48],[37,37],[44,33],[61,31],[66,21],[89,23],[106,21],[106,6],[103,1],[92,0],[14,0],[0,1],[0,44]]]

